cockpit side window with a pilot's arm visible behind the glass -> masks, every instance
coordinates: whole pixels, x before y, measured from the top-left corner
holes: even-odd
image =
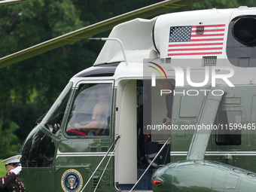
[[[108,136],[112,84],[80,84],[69,114],[68,136]]]

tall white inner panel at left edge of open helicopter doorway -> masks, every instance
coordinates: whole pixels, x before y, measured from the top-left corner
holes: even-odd
[[[116,134],[121,138],[115,158],[115,181],[119,184],[135,184],[137,181],[136,110],[136,80],[120,81]]]

